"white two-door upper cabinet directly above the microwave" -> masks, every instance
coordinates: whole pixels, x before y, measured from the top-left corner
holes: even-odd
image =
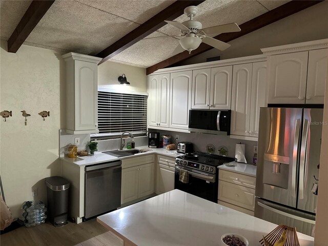
[[[232,66],[193,70],[192,109],[231,109]]]

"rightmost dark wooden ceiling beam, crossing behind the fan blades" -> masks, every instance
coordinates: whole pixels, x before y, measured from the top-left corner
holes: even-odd
[[[284,5],[279,6],[278,8],[270,10],[267,13],[264,13],[258,17],[255,17],[255,18],[249,20],[248,22],[245,22],[245,23],[239,25],[239,27],[241,29],[240,32],[222,33],[220,35],[215,36],[214,38],[219,39],[223,42],[229,42],[233,39],[236,39],[245,34],[251,33],[264,26],[270,25],[270,24],[276,22],[277,20],[280,20],[280,19],[290,16],[292,14],[295,14],[303,9],[309,8],[320,2],[323,2],[323,1],[321,1],[321,0],[318,0],[318,1],[293,0]],[[199,55],[199,54],[206,52],[208,50],[211,50],[211,49],[213,49],[213,47],[202,43],[196,50],[192,51],[191,54],[189,54],[188,51],[183,51],[182,53],[174,55],[166,60],[161,61],[160,63],[157,63],[157,64],[147,68],[146,74],[149,75],[158,69],[172,66],[176,63],[179,63],[180,61],[189,59],[193,56]]]

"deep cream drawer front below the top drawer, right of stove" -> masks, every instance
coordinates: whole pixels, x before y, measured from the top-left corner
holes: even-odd
[[[218,199],[254,211],[255,190],[219,180]]]

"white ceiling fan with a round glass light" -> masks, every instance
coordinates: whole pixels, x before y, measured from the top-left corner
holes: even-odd
[[[172,20],[165,20],[168,24],[179,28],[180,35],[171,36],[161,36],[161,37],[151,37],[151,38],[163,38],[163,37],[177,37],[179,38],[180,45],[174,50],[173,53],[177,54],[185,50],[189,51],[195,50],[199,47],[201,42],[208,44],[218,50],[225,50],[231,45],[224,43],[220,40],[207,36],[207,34],[220,34],[225,32],[239,32],[240,28],[236,23],[224,24],[214,27],[202,28],[200,22],[193,20],[193,17],[197,14],[198,9],[196,6],[189,6],[185,8],[185,14],[190,18],[186,22],[174,22]],[[150,39],[150,38],[145,38]]]

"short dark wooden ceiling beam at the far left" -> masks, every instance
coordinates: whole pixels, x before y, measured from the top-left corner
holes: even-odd
[[[16,53],[20,46],[25,42],[26,38],[33,31],[40,19],[45,15],[55,0],[37,1],[34,0],[26,10],[17,27],[11,34],[7,42],[7,50]]]

